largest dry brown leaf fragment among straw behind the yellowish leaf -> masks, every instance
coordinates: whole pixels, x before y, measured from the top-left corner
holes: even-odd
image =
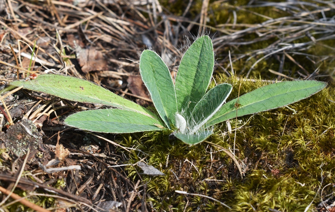
[[[77,51],[77,60],[84,73],[107,70],[107,61],[103,53],[94,47],[79,49]]]

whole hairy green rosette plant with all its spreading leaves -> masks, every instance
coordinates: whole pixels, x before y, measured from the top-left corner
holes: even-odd
[[[169,68],[154,51],[144,50],[140,73],[159,115],[92,82],[70,76],[42,74],[11,85],[45,92],[78,102],[97,103],[111,109],[81,111],[64,123],[78,129],[101,133],[134,133],[177,129],[175,137],[195,145],[213,134],[217,123],[267,111],[322,90],[327,84],[299,80],[269,84],[224,103],[232,86],[218,84],[208,90],[214,68],[213,44],[201,36],[183,55],[175,83]]]

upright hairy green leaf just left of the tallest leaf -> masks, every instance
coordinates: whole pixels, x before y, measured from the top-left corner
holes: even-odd
[[[144,50],[140,57],[140,72],[158,114],[171,129],[170,125],[175,124],[177,100],[169,69],[156,52]]]

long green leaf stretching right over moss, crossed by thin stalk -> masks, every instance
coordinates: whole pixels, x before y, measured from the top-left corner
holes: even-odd
[[[327,83],[312,80],[285,81],[269,84],[239,97],[240,107],[235,104],[237,98],[225,103],[221,109],[206,123],[211,126],[237,116],[255,114],[280,108],[319,92]]]

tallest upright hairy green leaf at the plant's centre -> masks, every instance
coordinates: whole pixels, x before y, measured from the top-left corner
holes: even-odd
[[[201,36],[185,52],[176,76],[178,112],[192,112],[204,96],[213,74],[214,51],[209,36]]]

